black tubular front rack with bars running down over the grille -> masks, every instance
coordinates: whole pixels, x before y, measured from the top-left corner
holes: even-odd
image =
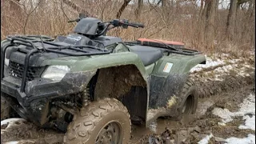
[[[38,38],[38,39],[37,39]],[[22,52],[26,53],[25,63],[24,63],[24,70],[22,74],[22,84],[20,87],[20,91],[25,91],[26,86],[26,74],[29,67],[30,56],[35,53],[55,53],[55,54],[64,54],[69,56],[88,56],[88,55],[96,55],[96,54],[110,54],[112,50],[107,50],[106,48],[100,48],[96,46],[63,46],[61,44],[53,42],[54,39],[46,36],[13,36],[7,37],[7,40],[10,43],[4,45],[1,48],[1,81],[4,76],[4,63],[5,63],[5,55],[6,50],[11,46],[28,46],[31,49],[22,49]],[[42,46],[35,46],[34,42],[41,42]],[[52,45],[52,47],[45,47],[44,44]],[[87,49],[87,50],[84,50]],[[90,50],[88,50],[90,49]],[[62,51],[62,50],[74,50],[70,52]]]

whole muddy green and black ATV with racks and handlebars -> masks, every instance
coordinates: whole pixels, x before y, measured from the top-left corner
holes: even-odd
[[[25,118],[65,132],[64,143],[127,143],[131,122],[178,120],[198,105],[190,69],[206,58],[182,42],[106,36],[128,20],[75,20],[74,32],[1,42],[1,119]]]

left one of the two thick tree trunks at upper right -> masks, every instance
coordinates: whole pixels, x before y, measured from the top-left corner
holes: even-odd
[[[202,12],[202,42],[204,42],[206,49],[214,47],[215,38],[215,16],[218,8],[218,0],[206,0],[205,7]]]

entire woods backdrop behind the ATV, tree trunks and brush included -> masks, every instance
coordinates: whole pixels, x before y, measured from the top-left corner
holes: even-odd
[[[255,0],[1,0],[1,39],[10,34],[69,34],[79,13],[126,18],[144,29],[111,30],[125,40],[185,42],[205,52],[254,49]],[[240,53],[241,52],[241,53]]]

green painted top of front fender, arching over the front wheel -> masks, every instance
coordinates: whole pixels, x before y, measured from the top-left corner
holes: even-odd
[[[71,72],[98,70],[111,66],[134,65],[141,72],[143,78],[146,79],[149,75],[146,73],[145,66],[140,58],[138,58],[138,55],[131,52],[86,57],[56,58],[49,61],[46,60],[42,65],[67,65],[70,66]]]

